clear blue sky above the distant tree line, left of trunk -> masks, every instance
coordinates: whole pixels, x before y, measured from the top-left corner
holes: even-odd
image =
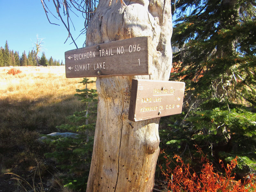
[[[45,3],[51,12],[55,13],[52,1],[45,0]],[[73,30],[72,35],[76,38],[83,28],[84,19],[77,18],[75,15],[72,18],[76,27],[76,31]],[[70,44],[72,43],[70,38],[64,44],[68,37],[66,28],[51,13],[49,13],[49,19],[60,26],[48,22],[41,0],[0,0],[0,47],[4,47],[7,40],[10,50],[19,51],[19,55],[25,50],[28,55],[28,51],[35,46],[38,34],[38,38],[44,38],[42,51],[45,52],[46,58],[52,56],[53,59],[65,62],[64,53],[76,49],[76,46]],[[76,40],[78,48],[83,46],[84,40],[85,36],[80,36]],[[40,57],[41,54],[39,54]]]

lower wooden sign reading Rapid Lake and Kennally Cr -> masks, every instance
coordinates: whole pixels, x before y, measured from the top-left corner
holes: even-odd
[[[181,113],[184,90],[184,82],[132,79],[128,119],[135,122]]]

